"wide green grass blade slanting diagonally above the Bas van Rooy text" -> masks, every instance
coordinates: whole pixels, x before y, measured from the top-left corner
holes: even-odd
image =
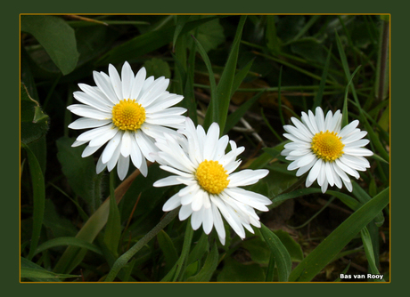
[[[388,204],[389,188],[381,191],[379,195],[373,197],[355,213],[352,213],[346,221],[343,221],[291,271],[289,280],[292,282],[311,281]]]

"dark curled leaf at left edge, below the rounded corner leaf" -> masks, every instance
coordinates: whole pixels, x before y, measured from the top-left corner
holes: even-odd
[[[39,140],[48,131],[48,116],[41,111],[40,105],[29,95],[21,84],[21,142],[29,144]]]

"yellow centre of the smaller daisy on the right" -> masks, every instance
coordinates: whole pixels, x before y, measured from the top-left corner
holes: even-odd
[[[317,157],[324,161],[333,162],[343,155],[343,147],[340,141],[341,137],[336,132],[318,132],[313,137],[311,148]]]

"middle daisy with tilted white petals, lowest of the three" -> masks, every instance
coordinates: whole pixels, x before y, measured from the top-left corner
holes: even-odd
[[[227,135],[219,138],[219,125],[213,123],[208,133],[201,125],[195,128],[193,121],[186,118],[179,137],[165,135],[155,145],[160,151],[155,154],[160,168],[174,173],[154,187],[183,184],[185,187],[170,197],[162,210],[169,212],[181,206],[179,219],[191,216],[194,230],[202,225],[206,234],[215,226],[220,242],[225,245],[225,227],[222,217],[242,239],[245,229],[253,233],[250,225],[260,227],[255,209],[266,212],[272,202],[265,196],[238,188],[256,183],[266,176],[266,169],[242,170],[234,173],[241,164],[236,157],[243,147],[237,148]],[[231,150],[225,154],[228,142]]]

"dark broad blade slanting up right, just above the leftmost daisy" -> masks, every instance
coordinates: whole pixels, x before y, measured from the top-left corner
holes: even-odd
[[[180,34],[187,33],[202,24],[205,24],[209,20],[215,20],[222,16],[209,17],[201,20],[193,20],[185,23],[184,28],[181,29]],[[108,63],[119,63],[125,60],[134,60],[135,58],[159,49],[172,42],[176,26],[166,26],[157,30],[145,33],[140,36],[136,36],[133,39],[128,40],[124,44],[120,44],[114,47],[110,52],[107,52],[97,61],[98,65],[107,65]]]

